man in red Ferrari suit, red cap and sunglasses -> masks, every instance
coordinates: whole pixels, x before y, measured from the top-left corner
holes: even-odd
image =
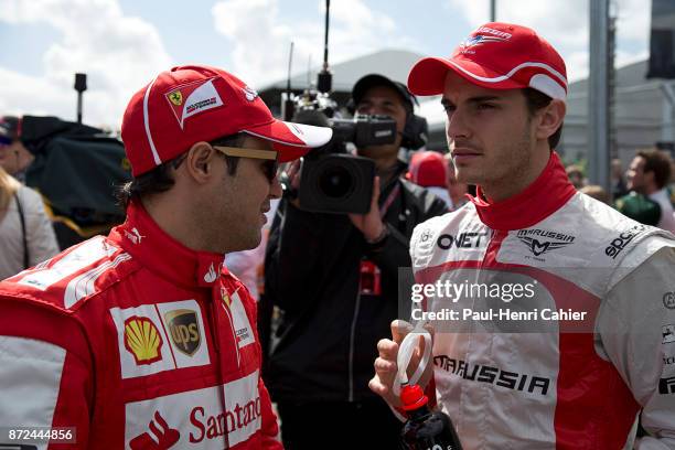
[[[259,243],[277,161],[330,136],[212,67],[135,95],[126,222],[0,283],[0,444],[44,427],[69,439],[39,449],[281,448],[256,304],[223,259]]]

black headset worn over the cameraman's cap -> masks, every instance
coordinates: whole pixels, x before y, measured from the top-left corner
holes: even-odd
[[[419,106],[419,103],[403,83],[394,82],[378,74],[369,74],[362,77],[354,85],[352,98],[347,101],[346,108],[350,114],[354,115],[356,113],[357,99],[361,100],[365,93],[375,86],[390,87],[404,99],[406,107],[406,126],[401,132],[400,146],[408,150],[417,150],[424,147],[427,143],[427,119],[414,113],[415,105]]]

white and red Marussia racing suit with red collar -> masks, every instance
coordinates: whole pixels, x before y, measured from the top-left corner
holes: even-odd
[[[576,192],[556,153],[415,229],[413,318],[465,450],[632,448],[641,410],[636,448],[675,449],[674,239]]]

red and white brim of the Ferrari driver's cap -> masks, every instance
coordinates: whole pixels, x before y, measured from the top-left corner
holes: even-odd
[[[282,120],[250,127],[244,132],[272,142],[279,162],[288,162],[307,154],[310,149],[325,146],[333,136],[328,127],[314,127]]]

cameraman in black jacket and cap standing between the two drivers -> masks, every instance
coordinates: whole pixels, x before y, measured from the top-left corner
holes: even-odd
[[[396,448],[400,422],[368,389],[376,343],[398,315],[398,268],[410,267],[413,229],[447,212],[442,201],[401,178],[400,148],[424,144],[405,85],[367,75],[352,99],[357,114],[386,115],[397,125],[394,143],[357,149],[376,165],[371,211],[310,213],[285,197],[267,248],[265,292],[283,315],[266,383],[290,449],[366,448],[371,441]],[[289,176],[297,186],[297,164]]]

